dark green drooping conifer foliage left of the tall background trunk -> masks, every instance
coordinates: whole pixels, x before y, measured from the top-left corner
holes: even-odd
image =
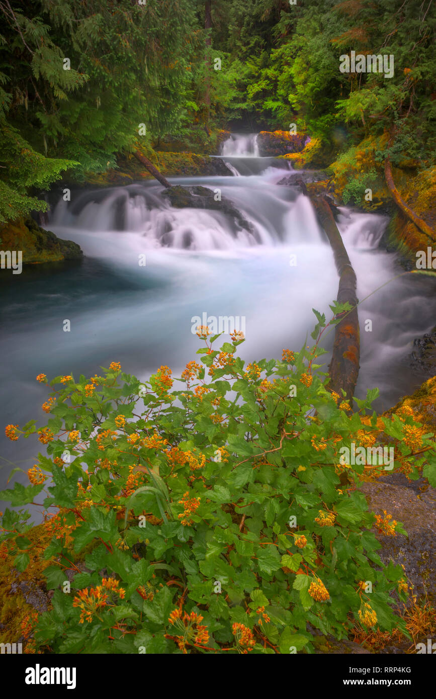
[[[2,3],[0,215],[43,210],[34,194],[61,171],[106,171],[182,127],[195,26],[193,0]]]

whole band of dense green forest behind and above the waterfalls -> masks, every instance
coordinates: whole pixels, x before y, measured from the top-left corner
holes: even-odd
[[[168,138],[208,152],[225,127],[293,122],[330,161],[366,143],[429,168],[435,29],[432,0],[0,0],[0,220],[44,210],[65,171]],[[341,73],[351,50],[393,55],[393,77]]]

